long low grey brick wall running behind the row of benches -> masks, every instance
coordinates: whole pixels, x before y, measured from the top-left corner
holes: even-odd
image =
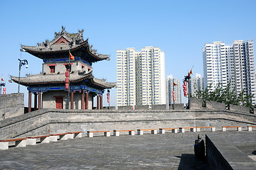
[[[228,111],[96,111],[40,109],[0,121],[0,139],[88,130],[256,125],[256,115]]]

